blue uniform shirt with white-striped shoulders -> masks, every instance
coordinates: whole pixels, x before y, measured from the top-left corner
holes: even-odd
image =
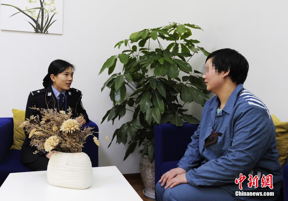
[[[275,126],[265,104],[239,84],[218,114],[219,99],[214,96],[206,102],[202,119],[192,142],[178,163],[187,171],[192,186],[222,186],[235,196],[234,183],[239,174],[247,178],[242,183],[248,188],[248,174],[258,175],[259,187],[264,174],[273,175],[275,194],[280,190],[282,176],[276,149]],[[214,144],[204,147],[204,140],[214,132],[221,132]],[[266,188],[267,189],[267,188]]]

